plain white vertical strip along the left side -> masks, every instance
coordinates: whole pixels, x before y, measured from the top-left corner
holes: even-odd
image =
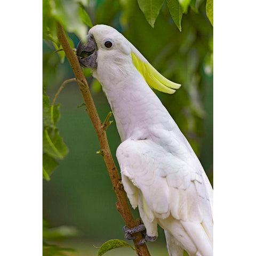
[[[0,19],[1,254],[42,255],[42,1]]]

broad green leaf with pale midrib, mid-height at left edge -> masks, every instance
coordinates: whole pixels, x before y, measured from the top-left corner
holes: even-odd
[[[43,130],[43,150],[54,158],[63,159],[68,154],[68,148],[64,144],[59,130],[45,127]]]

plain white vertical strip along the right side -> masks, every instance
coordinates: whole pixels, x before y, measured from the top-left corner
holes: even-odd
[[[255,249],[255,2],[214,1],[214,255]]]

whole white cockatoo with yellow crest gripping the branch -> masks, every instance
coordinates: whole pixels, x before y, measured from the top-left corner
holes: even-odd
[[[122,143],[116,151],[124,189],[139,207],[141,243],[165,231],[169,255],[213,255],[213,190],[179,127],[150,87],[174,93],[180,84],[163,77],[116,29],[97,25],[77,56],[102,85]],[[130,236],[130,237],[129,237]]]

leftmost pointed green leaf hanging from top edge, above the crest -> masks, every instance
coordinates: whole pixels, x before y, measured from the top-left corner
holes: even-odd
[[[154,28],[163,0],[138,0],[138,4],[149,25]]]

